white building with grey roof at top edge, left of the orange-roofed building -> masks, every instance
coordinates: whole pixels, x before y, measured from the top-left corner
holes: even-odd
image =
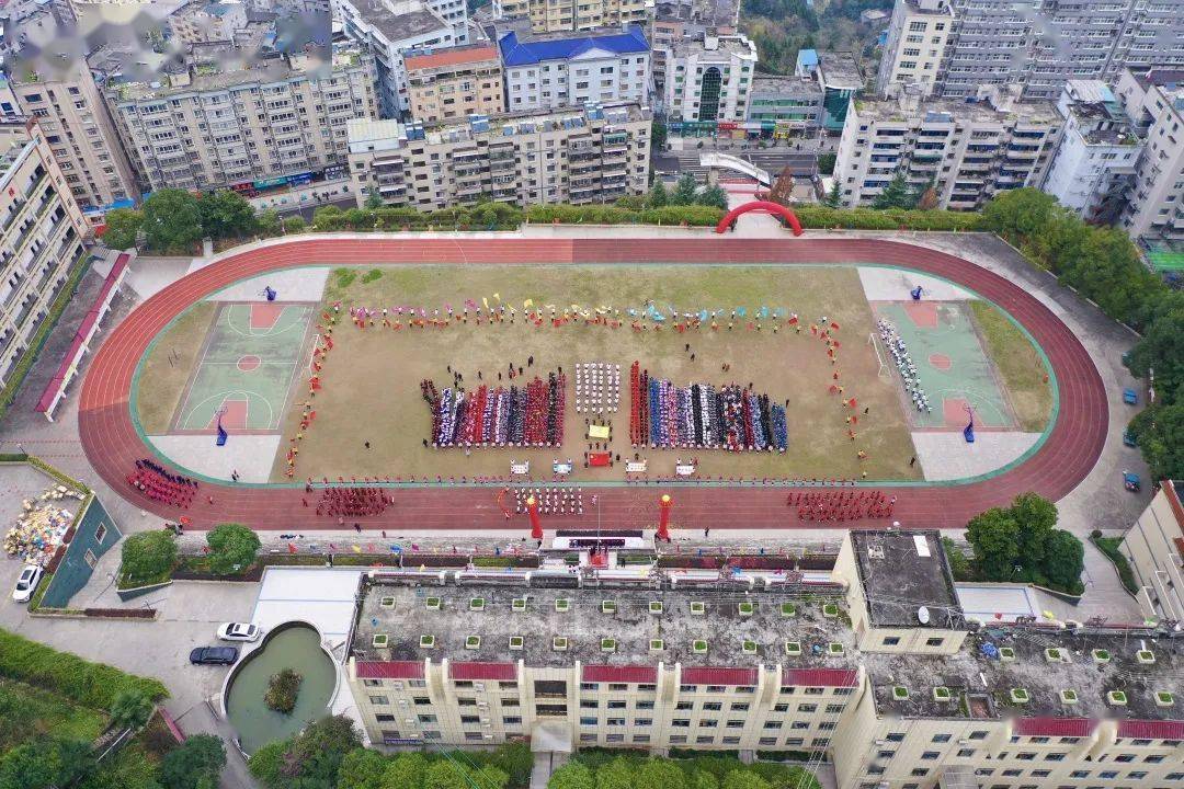
[[[420,0],[334,0],[346,35],[374,56],[379,109],[385,118],[410,112],[407,70],[403,53],[469,43],[469,25],[449,21]],[[436,0],[437,5],[442,0]],[[464,4],[462,2],[462,6]],[[453,12],[455,13],[455,12]]]

